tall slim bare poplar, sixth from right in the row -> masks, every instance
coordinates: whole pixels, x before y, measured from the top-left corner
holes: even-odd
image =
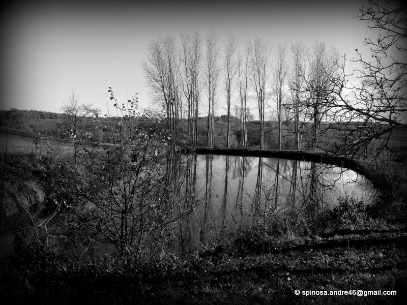
[[[238,62],[236,60],[236,51],[239,46],[239,41],[235,35],[227,35],[227,43],[225,45],[225,94],[226,94],[226,107],[227,107],[227,128],[226,128],[226,147],[230,147],[230,105],[231,96],[234,92],[233,79],[238,72]]]

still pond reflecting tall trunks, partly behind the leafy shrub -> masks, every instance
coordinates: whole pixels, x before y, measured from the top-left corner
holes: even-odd
[[[170,154],[164,162],[152,164],[157,171],[147,168],[136,181],[127,175],[131,171],[126,172],[128,180],[113,179],[111,188],[105,187],[103,175],[92,178],[99,187],[85,193],[88,201],[61,212],[52,234],[41,226],[36,232],[58,245],[55,249],[61,253],[73,252],[81,259],[87,259],[83,253],[91,241],[93,251],[104,256],[120,251],[119,242],[126,238],[130,254],[186,254],[226,245],[240,232],[257,230],[277,237],[321,232],[324,217],[341,198],[369,202],[374,195],[371,182],[355,171],[314,162]],[[126,193],[121,187],[133,182],[137,187],[124,214]],[[36,240],[33,230],[31,235],[27,240]]]

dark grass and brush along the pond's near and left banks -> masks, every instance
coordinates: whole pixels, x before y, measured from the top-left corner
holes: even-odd
[[[2,141],[5,143],[4,131]],[[25,198],[17,205],[19,214],[10,213],[3,226],[0,289],[10,303],[390,304],[405,297],[407,188],[403,163],[388,163],[377,171],[392,187],[374,202],[344,198],[302,229],[270,218],[266,231],[262,222],[242,226],[227,245],[204,247],[195,253],[160,248],[154,255],[126,256],[117,251],[106,255],[93,247],[97,235],[74,233],[64,221],[74,210],[77,225],[86,216],[75,208],[79,207],[75,203],[78,197],[68,192],[74,181],[86,186],[81,173],[84,167],[74,164],[69,142],[18,131],[9,131],[7,142],[2,183],[13,181],[23,195],[19,200]],[[85,156],[81,153],[78,163]],[[61,217],[44,226],[43,221],[54,213],[55,200],[66,200],[60,206]],[[37,201],[41,204],[34,204]],[[52,230],[55,225],[63,230]],[[92,232],[86,231],[89,229],[81,230]],[[97,233],[97,228],[92,230]],[[10,232],[14,238],[7,239]],[[38,238],[34,232],[39,233]],[[61,239],[52,238],[63,232],[66,238],[68,232],[75,237],[75,248],[63,248],[58,242]],[[297,296],[296,289],[381,289],[396,290],[397,295]]]

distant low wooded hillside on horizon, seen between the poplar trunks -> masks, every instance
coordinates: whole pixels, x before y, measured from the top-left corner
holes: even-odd
[[[259,120],[253,120],[253,116],[249,113],[248,121],[245,124],[246,132],[246,142],[243,143],[244,137],[242,135],[241,126],[242,120],[240,117],[235,115],[230,115],[229,117],[224,114],[220,116],[213,117],[214,133],[212,135],[212,147],[226,147],[225,135],[228,130],[229,123],[229,145],[230,147],[242,147],[245,145],[248,148],[259,148],[260,147],[260,136],[259,136]],[[9,128],[14,128],[18,130],[28,131],[45,136],[60,137],[65,139],[72,138],[72,124],[70,124],[70,117],[64,113],[54,113],[54,112],[43,112],[37,110],[3,110],[0,112],[0,126],[7,126]],[[111,132],[109,132],[109,119],[115,119],[114,117],[107,118],[104,116],[91,117],[89,124],[84,126],[80,123],[77,126],[76,135],[82,143],[85,142],[99,142],[99,143],[110,143],[112,141]],[[156,128],[157,118],[146,117],[143,120],[136,120],[137,125],[143,130],[148,130],[149,128]],[[197,137],[196,146],[202,147],[207,146],[207,122],[208,117],[199,116],[197,125]],[[179,120],[179,131],[178,138],[176,140],[177,145],[188,145],[188,134],[187,134],[187,119],[183,118]],[[281,125],[281,133],[278,133],[279,122],[277,120],[266,120],[264,122],[264,148],[267,149],[289,149],[295,150],[298,148],[296,143],[296,133],[293,132],[295,128],[295,123],[293,120],[285,121]],[[346,126],[357,128],[358,123],[349,123]],[[164,132],[167,128],[166,120],[164,119],[161,123],[160,130]],[[343,126],[338,124],[335,128],[328,129],[327,124],[321,126],[326,133],[322,134],[322,143],[324,143],[324,148],[327,147],[338,147],[345,140],[346,134],[341,132]],[[309,129],[309,124],[305,124],[304,130]],[[279,138],[281,135],[281,138]],[[312,148],[312,138],[306,132],[300,132],[299,140],[301,141],[300,150],[308,150]],[[393,133],[392,140],[400,142],[400,139],[405,138],[405,133],[399,130]],[[78,139],[79,140],[79,139]],[[403,144],[403,142],[400,142]],[[322,146],[322,144],[321,144]],[[364,151],[363,151],[364,152]]]

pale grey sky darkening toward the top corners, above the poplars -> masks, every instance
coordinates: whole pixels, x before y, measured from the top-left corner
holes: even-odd
[[[1,13],[0,109],[61,112],[74,93],[106,113],[108,87],[126,101],[138,93],[140,108],[154,105],[141,60],[158,35],[205,35],[215,29],[241,45],[258,36],[276,46],[296,40],[334,45],[347,60],[355,49],[369,55],[366,23],[353,18],[364,1],[13,2]],[[352,66],[349,66],[352,68]],[[223,96],[219,95],[219,104]]]

